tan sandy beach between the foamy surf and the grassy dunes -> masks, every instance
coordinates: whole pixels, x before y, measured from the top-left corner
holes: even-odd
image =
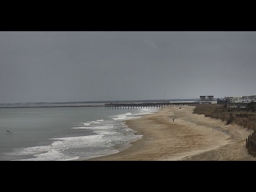
[[[193,108],[168,107],[127,120],[126,124],[143,137],[126,150],[89,160],[256,160],[245,146],[251,131],[192,114]]]

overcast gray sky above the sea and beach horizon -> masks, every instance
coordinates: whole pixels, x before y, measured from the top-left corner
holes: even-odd
[[[256,32],[0,32],[0,103],[256,95]]]

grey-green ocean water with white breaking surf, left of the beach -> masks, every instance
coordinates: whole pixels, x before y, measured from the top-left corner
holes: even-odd
[[[0,160],[85,160],[114,154],[142,137],[125,120],[157,110],[0,108]]]

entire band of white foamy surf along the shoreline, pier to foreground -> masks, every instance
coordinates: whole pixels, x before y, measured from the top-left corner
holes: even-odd
[[[154,109],[140,109],[113,116],[112,120],[99,119],[80,123],[80,126],[74,125],[72,129],[90,129],[96,135],[52,138],[50,139],[53,141],[52,144],[18,148],[9,154],[15,155],[17,157],[16,161],[72,161],[87,160],[118,153],[130,146],[129,141],[134,142],[142,138],[142,135],[135,135],[134,132],[136,131],[130,129],[124,121],[141,118],[142,116],[140,115],[151,114],[157,111]],[[133,112],[135,113],[133,114]],[[116,143],[115,141],[119,142]],[[122,144],[120,141],[122,141]],[[26,156],[28,157],[26,158]]]

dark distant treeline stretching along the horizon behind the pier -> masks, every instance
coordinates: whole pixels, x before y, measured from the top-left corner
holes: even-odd
[[[116,101],[82,101],[82,102],[28,102],[28,103],[1,103],[0,105],[21,105],[21,104],[36,104],[36,105],[46,105],[46,104],[91,104],[91,103],[153,103],[153,102],[170,102],[170,101],[198,101],[198,99],[162,99],[162,100],[116,100]]]

